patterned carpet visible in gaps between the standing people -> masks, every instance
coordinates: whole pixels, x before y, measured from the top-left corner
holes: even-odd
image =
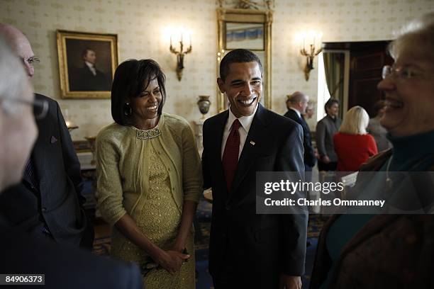
[[[318,235],[326,218],[320,215],[309,215],[308,221],[308,247],[306,251],[306,274],[303,276],[303,287],[308,288],[311,279],[313,261],[316,254],[316,245]],[[108,226],[108,225],[105,225]],[[208,273],[208,242],[209,231],[211,228],[211,203],[201,200],[196,212],[196,229],[195,246],[196,246],[196,289],[212,289],[212,279]],[[95,229],[94,254],[108,255],[110,252],[110,231],[104,229]]]

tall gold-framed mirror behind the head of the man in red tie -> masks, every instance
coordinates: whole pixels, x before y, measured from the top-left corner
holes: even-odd
[[[230,50],[244,48],[252,50],[260,57],[263,68],[263,94],[261,103],[266,107],[272,108],[272,21],[273,11],[271,9],[227,9],[217,8],[218,19],[218,57],[217,57],[217,77],[219,75],[220,61]],[[252,41],[240,41],[234,34],[233,41],[228,42],[228,31],[233,30],[243,33]],[[217,109],[220,113],[228,108],[228,100],[217,88]]]

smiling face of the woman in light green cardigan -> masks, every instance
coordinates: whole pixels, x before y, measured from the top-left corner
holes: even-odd
[[[141,126],[139,124],[155,120],[156,125],[158,108],[161,102],[162,94],[158,80],[155,78],[149,82],[148,87],[143,89],[139,96],[130,98],[133,124]]]

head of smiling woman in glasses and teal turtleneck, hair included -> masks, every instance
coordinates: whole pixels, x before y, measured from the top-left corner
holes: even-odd
[[[431,14],[434,17],[434,13]],[[396,137],[434,130],[432,33],[425,28],[425,32],[404,34],[391,44],[395,63],[384,67],[384,79],[378,88],[386,95],[386,111],[381,123]]]

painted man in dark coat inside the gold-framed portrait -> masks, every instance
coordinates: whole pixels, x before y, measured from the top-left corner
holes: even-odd
[[[77,83],[72,91],[109,91],[111,90],[106,74],[96,69],[96,52],[86,48],[82,53],[83,67],[77,69]]]

